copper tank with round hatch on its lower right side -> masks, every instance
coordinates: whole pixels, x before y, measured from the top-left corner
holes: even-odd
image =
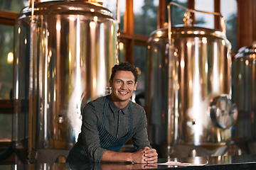
[[[152,145],[162,157],[224,154],[237,117],[225,33],[185,23],[156,30],[148,42]]]

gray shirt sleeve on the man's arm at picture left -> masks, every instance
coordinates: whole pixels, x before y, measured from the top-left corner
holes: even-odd
[[[96,108],[88,103],[82,111],[82,140],[84,142],[87,157],[91,162],[100,162],[102,154],[106,149],[100,147],[100,138],[98,131],[99,115],[96,114]]]

